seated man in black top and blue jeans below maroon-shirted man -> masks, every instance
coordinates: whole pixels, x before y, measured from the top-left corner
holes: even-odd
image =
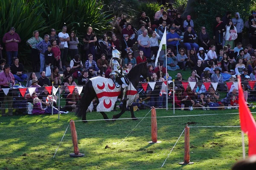
[[[12,74],[18,82],[24,82],[28,78],[26,74],[23,74],[24,67],[21,63],[19,63],[19,59],[17,57],[13,58],[13,64],[11,65]]]

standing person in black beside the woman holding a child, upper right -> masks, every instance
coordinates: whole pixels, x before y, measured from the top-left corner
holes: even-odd
[[[219,52],[222,49],[222,41],[223,41],[223,33],[226,31],[225,23],[221,21],[221,17],[217,15],[215,17],[216,22],[213,24],[212,34],[213,39],[215,40],[215,46],[217,47],[217,51]]]

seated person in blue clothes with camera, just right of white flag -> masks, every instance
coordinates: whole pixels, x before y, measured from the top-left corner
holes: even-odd
[[[166,59],[166,56],[167,56],[167,59]],[[177,59],[170,48],[167,49],[167,55],[163,55],[163,65],[166,65],[166,60],[167,60],[167,70],[175,71],[180,69],[180,67],[177,65]]]

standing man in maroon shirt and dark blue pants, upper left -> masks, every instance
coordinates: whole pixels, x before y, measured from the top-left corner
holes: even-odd
[[[18,55],[18,43],[20,43],[20,36],[15,32],[15,28],[11,27],[10,31],[4,34],[3,43],[6,44],[7,64],[12,64],[12,58]]]

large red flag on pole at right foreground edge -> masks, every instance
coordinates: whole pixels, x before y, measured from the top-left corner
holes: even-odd
[[[244,93],[241,86],[241,77],[239,78],[239,118],[241,130],[248,136],[249,156],[256,154],[256,122],[253,115],[244,100]]]

